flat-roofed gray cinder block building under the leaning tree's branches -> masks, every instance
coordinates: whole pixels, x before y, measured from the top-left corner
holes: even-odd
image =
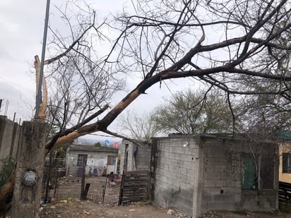
[[[125,167],[129,168],[136,145],[126,144],[128,153],[121,152],[121,161],[127,158]],[[276,144],[172,135],[153,138],[150,147],[139,149],[140,155],[145,150],[144,155],[150,157],[153,200],[162,207],[177,207],[193,217],[210,210],[278,209]]]

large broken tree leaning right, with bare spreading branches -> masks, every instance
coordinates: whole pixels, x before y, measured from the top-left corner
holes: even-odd
[[[116,26],[104,24],[120,34],[96,70],[140,72],[140,83],[112,109],[98,104],[97,111],[76,125],[60,128],[46,143],[46,154],[89,133],[118,135],[108,128],[119,114],[149,87],[175,78],[195,78],[210,89],[223,90],[230,109],[236,95],[275,95],[277,104],[290,107],[291,9],[287,0],[137,1],[134,8],[135,14],[114,18]],[[90,30],[96,30],[95,23],[44,63],[72,57],[70,52],[78,51]],[[100,118],[101,114],[105,116]],[[7,191],[1,188],[0,200]]]

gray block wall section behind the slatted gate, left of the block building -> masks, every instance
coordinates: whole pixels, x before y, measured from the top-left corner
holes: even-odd
[[[127,162],[127,167],[126,167],[127,171],[150,170],[151,146],[148,144],[143,144],[143,147],[141,147],[132,142],[129,142],[128,140],[122,140],[121,146],[119,147],[119,153],[121,155],[120,169],[119,169],[120,173],[124,170],[126,145],[128,145],[129,147],[128,162]],[[134,157],[135,152],[136,152],[136,157]]]

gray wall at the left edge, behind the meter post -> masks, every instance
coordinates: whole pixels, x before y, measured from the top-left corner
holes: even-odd
[[[8,156],[17,159],[21,126],[0,116],[0,159]]]

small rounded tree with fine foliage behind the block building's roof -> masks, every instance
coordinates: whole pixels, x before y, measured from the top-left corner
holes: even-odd
[[[186,135],[232,132],[232,114],[225,97],[218,93],[187,90],[177,92],[153,113],[156,128]]]

